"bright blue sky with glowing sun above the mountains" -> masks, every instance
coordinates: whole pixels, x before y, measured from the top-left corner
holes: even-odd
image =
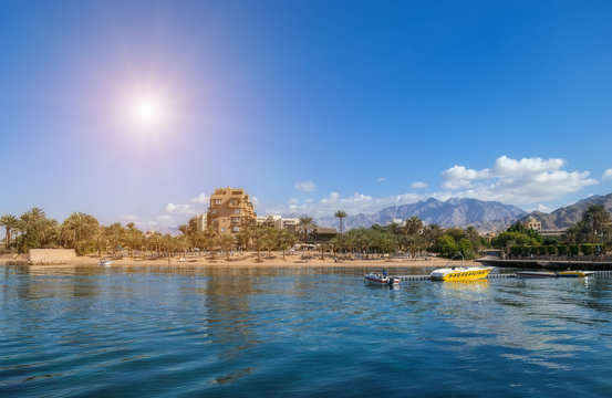
[[[609,1],[2,1],[0,213],[612,191]],[[133,121],[138,98],[158,118]],[[152,101],[153,101],[152,100]]]

